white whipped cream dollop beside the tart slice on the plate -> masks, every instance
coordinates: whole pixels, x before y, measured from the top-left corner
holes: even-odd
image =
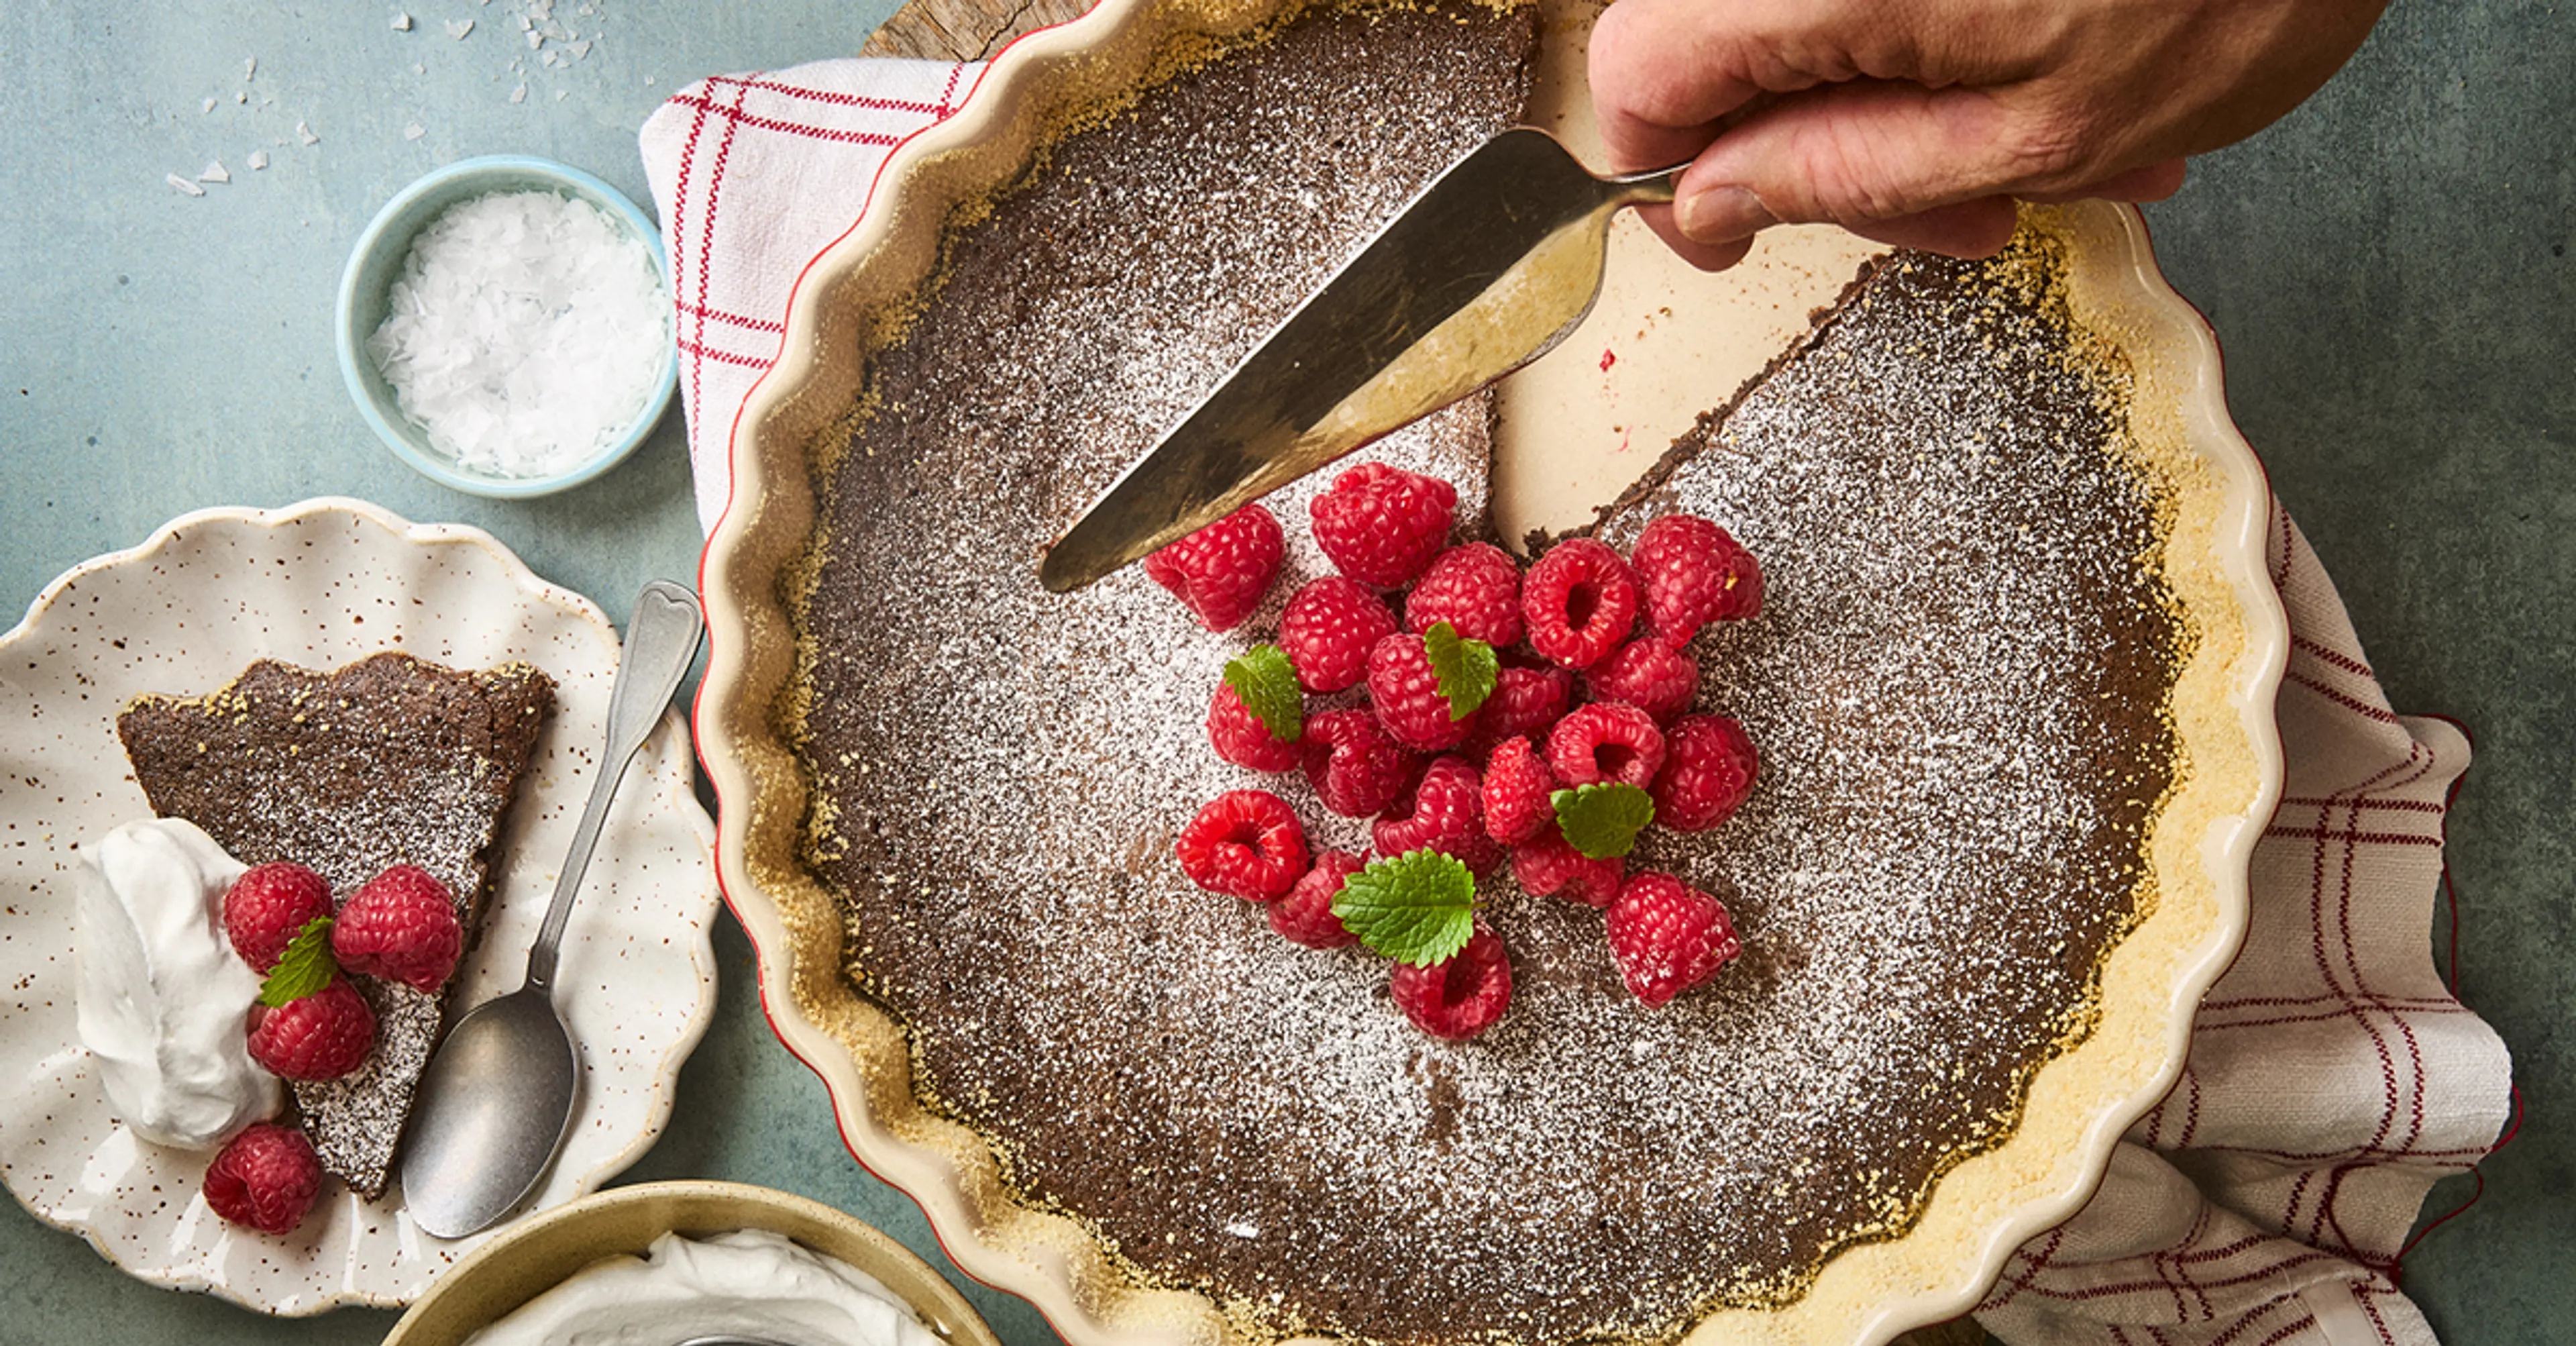
[[[178,817],[80,846],[75,1031],[116,1117],[155,1145],[211,1150],[278,1111],[278,1078],[250,1060],[260,975],[224,939],[240,874]]]

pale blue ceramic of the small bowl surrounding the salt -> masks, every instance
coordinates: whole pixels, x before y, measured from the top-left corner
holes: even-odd
[[[394,402],[392,384],[376,369],[376,358],[366,353],[366,338],[384,325],[386,291],[394,278],[402,276],[402,258],[412,253],[412,240],[425,229],[440,211],[459,201],[471,201],[477,196],[489,196],[495,191],[551,191],[556,196],[590,201],[592,206],[608,211],[629,235],[644,240],[652,250],[654,268],[662,276],[662,294],[670,297],[670,255],[662,250],[662,232],[654,229],[652,219],[636,209],[618,188],[582,173],[580,168],[564,168],[559,162],[536,160],[528,155],[487,155],[479,160],[451,162],[417,183],[402,188],[392,201],[376,211],[366,232],[358,235],[358,248],[348,255],[348,268],[340,271],[340,379],[348,382],[350,400],[358,402],[358,415],[376,431],[397,459],[412,464],[422,477],[433,482],[451,485],[471,495],[492,495],[502,500],[554,495],[556,490],[577,487],[600,472],[616,467],[644,436],[652,433],[662,413],[670,410],[670,395],[680,387],[680,351],[677,346],[662,346],[662,376],[657,389],[644,400],[644,410],[636,415],[634,425],[618,433],[613,441],[603,444],[580,467],[556,472],[551,477],[495,477],[489,472],[477,472],[459,464],[453,456],[430,446],[430,436],[412,425],[402,407]]]

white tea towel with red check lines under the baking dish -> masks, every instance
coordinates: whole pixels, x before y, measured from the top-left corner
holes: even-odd
[[[788,289],[896,139],[981,67],[840,59],[690,85],[644,124],[680,304],[698,516]],[[2388,712],[2334,583],[2285,513],[2287,797],[2254,851],[2254,923],[2174,1093],[2099,1194],[2004,1266],[1978,1323],[2012,1346],[2432,1346],[2391,1274],[2434,1178],[2506,1114],[2509,1062],[2432,964],[2442,817],[2468,740]]]

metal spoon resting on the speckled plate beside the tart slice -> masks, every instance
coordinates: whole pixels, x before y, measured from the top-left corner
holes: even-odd
[[[626,655],[608,691],[608,753],[590,781],[590,805],[572,833],[572,853],[554,882],[546,923],[528,949],[528,980],[474,1006],[448,1029],[420,1075],[420,1104],[402,1155],[402,1199],[412,1220],[438,1238],[464,1238],[502,1217],[554,1163],[572,1124],[577,1057],[554,1013],[554,951],[582,890],[582,869],[600,841],[608,799],[626,776],[644,735],[662,722],[688,660],[698,655],[706,616],[698,596],[654,580],[626,624]]]

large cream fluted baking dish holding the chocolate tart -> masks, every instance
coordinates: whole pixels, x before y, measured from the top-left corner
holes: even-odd
[[[1239,1333],[1206,1297],[1123,1279],[1077,1222],[1012,1199],[974,1132],[914,1104],[902,1026],[845,980],[840,910],[799,864],[806,781],[778,722],[796,663],[783,575],[814,521],[809,454],[858,402],[863,358],[933,273],[948,214],[1015,180],[1066,111],[1146,80],[1175,41],[1249,31],[1283,3],[1108,0],[1015,41],[961,113],[902,144],[866,217],[796,286],[783,356],[734,425],[734,498],[706,554],[698,745],[721,799],[719,869],[760,951],[770,1021],[822,1075],[850,1153],[927,1209],[958,1266],[1033,1300],[1077,1346]],[[1582,147],[1595,10],[1561,8],[1533,119]],[[2190,768],[2151,835],[2159,897],[2105,967],[2099,1029],[2040,1070],[2012,1140],[1953,1168],[1904,1238],[1842,1251],[1785,1307],[1713,1312],[1690,1341],[1868,1343],[1973,1307],[2014,1245],[2084,1202],[2117,1135],[2172,1086],[2192,1008],[2244,933],[2246,859],[2280,792],[2272,691],[2287,629],[2262,567],[2269,493],[2226,415],[2208,325],[2156,273],[2138,214],[2069,206],[2045,227],[2071,245],[2076,317],[2138,374],[2136,438],[2179,485],[2164,565],[2195,634],[2174,707]],[[1868,253],[1793,229],[1726,276],[1698,276],[1643,229],[1618,229],[1589,325],[1502,389],[1504,536],[1615,495],[1705,410],[1705,389],[1759,371]],[[1674,312],[1695,320],[1669,322]],[[1618,361],[1600,361],[1602,340]],[[1628,449],[1551,449],[1561,444]]]

